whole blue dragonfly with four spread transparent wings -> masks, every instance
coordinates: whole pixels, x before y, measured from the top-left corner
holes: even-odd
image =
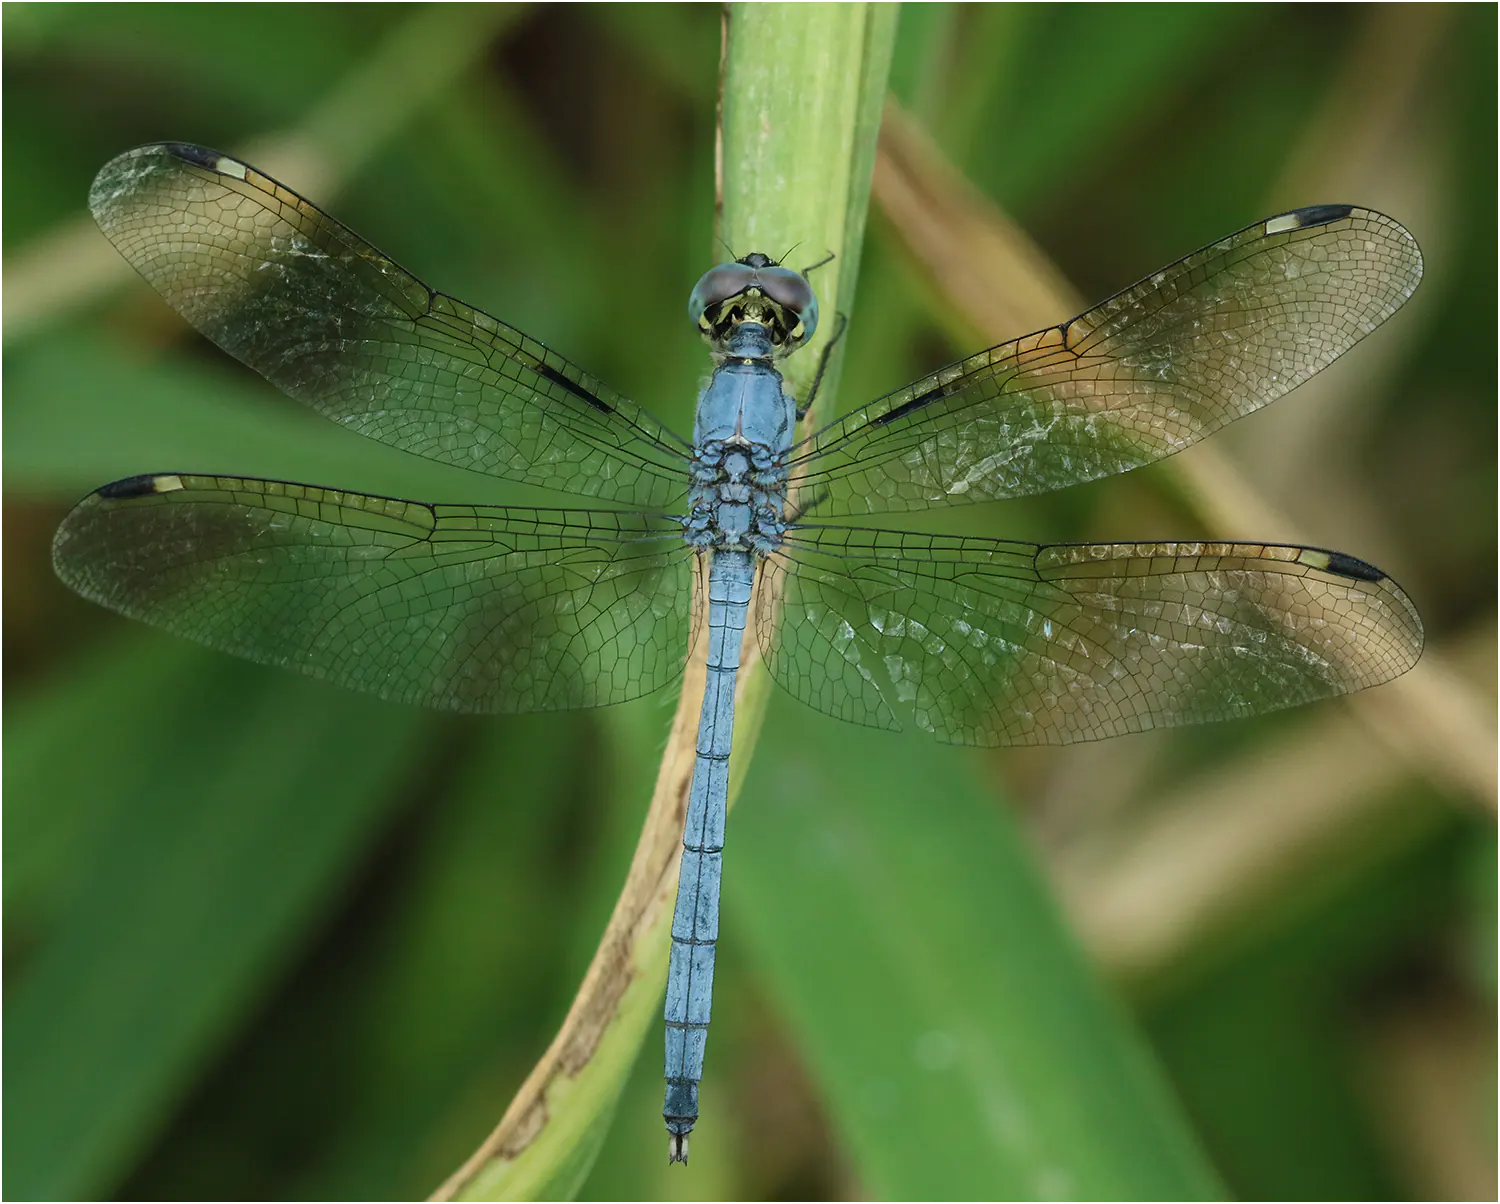
[[[746,255],[690,295],[714,367],[688,441],[238,159],[144,145],[102,168],[90,207],[183,318],[324,417],[618,508],[150,472],[63,520],[54,565],[75,591],[252,661],[464,712],[644,696],[680,678],[706,622],[666,988],[670,1162],[698,1120],[747,627],[810,708],[962,745],[1256,715],[1420,655],[1407,594],[1341,552],[858,525],[1125,472],[1296,388],[1420,280],[1413,237],[1368,208],[1256,222],[813,433],[777,364],[814,336],[816,294]]]

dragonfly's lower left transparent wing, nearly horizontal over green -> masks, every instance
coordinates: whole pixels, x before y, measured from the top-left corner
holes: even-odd
[[[693,552],[632,511],[428,505],[130,477],[52,543],[86,598],[210,648],[444,711],[604,706],[672,681]]]

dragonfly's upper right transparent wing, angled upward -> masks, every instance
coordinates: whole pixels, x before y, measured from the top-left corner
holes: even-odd
[[[792,475],[819,513],[860,514],[1140,468],[1328,367],[1420,279],[1416,241],[1380,213],[1282,213],[840,418],[792,450]]]

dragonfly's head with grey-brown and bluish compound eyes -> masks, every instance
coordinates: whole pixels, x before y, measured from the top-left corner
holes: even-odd
[[[726,352],[735,328],[754,322],[771,331],[776,354],[786,355],[818,330],[818,297],[802,273],[756,250],[704,273],[687,315],[714,351]]]

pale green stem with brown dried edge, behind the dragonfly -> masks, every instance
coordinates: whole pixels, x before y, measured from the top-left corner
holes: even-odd
[[[822,312],[831,318],[854,297],[896,6],[732,4],[726,21],[722,237],[738,253],[780,255],[798,244],[814,262],[836,252],[836,270],[814,279]],[[836,322],[825,321],[812,348],[788,363],[794,390],[812,379],[819,349],[834,328]],[[837,364],[825,376],[824,397],[832,394],[836,376]],[[753,640],[746,652],[735,783],[754,747],[768,694]],[[660,1042],[668,936],[702,690],[700,648],[684,676],[630,873],[578,997],[500,1125],[435,1198],[576,1195],[642,1042]],[[705,1120],[724,1123],[722,1117]]]

